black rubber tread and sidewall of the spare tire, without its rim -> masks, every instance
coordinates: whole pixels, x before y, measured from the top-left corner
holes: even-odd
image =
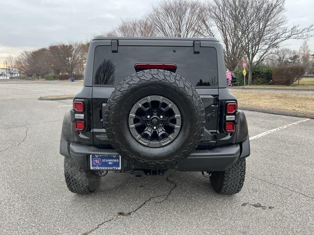
[[[181,109],[183,122],[185,118],[185,126],[182,125],[175,141],[158,148],[138,143],[127,123],[131,107],[138,102],[135,97],[150,95],[172,100]],[[144,70],[125,78],[105,106],[105,129],[111,145],[121,157],[143,168],[162,169],[177,165],[198,146],[204,127],[204,105],[193,85],[178,74],[165,70]]]

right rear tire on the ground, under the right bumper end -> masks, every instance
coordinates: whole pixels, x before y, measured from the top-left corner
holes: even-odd
[[[235,194],[241,191],[245,178],[245,157],[238,159],[225,171],[214,171],[210,183],[217,193]]]

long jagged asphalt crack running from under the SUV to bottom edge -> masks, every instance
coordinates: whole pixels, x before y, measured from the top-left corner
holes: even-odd
[[[153,199],[155,198],[159,198],[159,197],[165,197],[163,200],[159,201],[159,202],[156,202],[156,204],[158,203],[162,203],[166,200],[168,200],[168,197],[171,195],[171,193],[173,192],[173,190],[177,187],[177,183],[175,183],[174,181],[171,181],[169,180],[170,177],[172,177],[175,173],[171,174],[170,176],[168,176],[166,178],[166,182],[168,183],[171,183],[173,184],[173,187],[169,190],[169,192],[167,194],[161,194],[161,195],[157,195],[157,196],[154,196],[154,197],[150,197],[149,199],[145,200],[141,205],[139,205],[136,209],[134,210],[131,210],[130,212],[128,213],[124,213],[124,212],[118,212],[118,214],[108,220],[105,220],[104,222],[100,223],[97,225],[97,227],[95,227],[94,229],[82,234],[82,235],[89,235],[91,234],[92,232],[96,231],[97,229],[99,229],[100,226],[104,225],[105,223],[108,223],[112,220],[115,220],[115,219],[119,219],[121,217],[124,217],[124,216],[128,216],[128,215],[131,215],[132,213],[135,213],[137,210],[143,208],[148,202],[152,201]]]

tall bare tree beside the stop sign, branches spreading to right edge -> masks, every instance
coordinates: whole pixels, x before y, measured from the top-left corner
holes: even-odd
[[[230,17],[242,25],[236,36],[247,59],[248,84],[252,83],[252,69],[283,42],[309,38],[313,30],[313,25],[305,28],[286,26],[285,0],[233,0],[228,7],[242,9]]]

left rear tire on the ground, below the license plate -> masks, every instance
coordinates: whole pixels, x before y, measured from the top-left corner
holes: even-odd
[[[86,171],[71,157],[64,157],[64,177],[69,190],[78,194],[91,193],[100,183],[100,176]]]

